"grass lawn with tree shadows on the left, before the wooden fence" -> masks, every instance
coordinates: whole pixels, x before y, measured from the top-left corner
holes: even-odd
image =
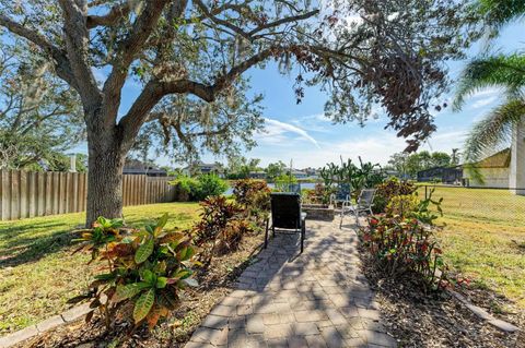
[[[168,213],[166,228],[187,228],[198,217],[197,203],[164,203],[124,208],[126,224],[141,227]],[[72,230],[85,214],[0,221],[0,336],[36,324],[68,309],[66,301],[85,289],[94,265],[78,253]]]

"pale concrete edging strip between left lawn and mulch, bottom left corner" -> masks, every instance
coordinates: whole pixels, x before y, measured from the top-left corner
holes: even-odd
[[[12,347],[21,341],[33,338],[39,334],[44,334],[45,332],[59,325],[71,323],[88,314],[90,311],[92,311],[92,309],[90,309],[90,303],[73,307],[63,313],[48,317],[38,324],[27,326],[12,334],[0,337],[0,348]]]

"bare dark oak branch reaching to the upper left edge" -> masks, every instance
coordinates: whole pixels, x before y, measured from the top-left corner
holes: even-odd
[[[55,60],[55,70],[57,75],[66,81],[70,86],[79,91],[77,79],[74,77],[71,64],[69,63],[67,53],[65,51],[49,43],[44,35],[23,26],[22,24],[9,19],[3,14],[0,14],[0,25],[5,27],[11,33],[32,41],[43,49]]]

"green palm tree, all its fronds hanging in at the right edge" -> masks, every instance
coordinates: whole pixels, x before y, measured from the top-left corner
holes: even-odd
[[[525,1],[477,0],[475,11],[481,15],[487,35],[494,38],[501,28],[525,15]],[[454,109],[458,110],[465,98],[482,88],[500,87],[504,100],[490,110],[470,131],[464,149],[464,160],[475,164],[502,144],[508,143],[523,127],[525,116],[525,55],[482,56],[470,61],[459,79]],[[479,171],[471,168],[475,179],[482,181]]]

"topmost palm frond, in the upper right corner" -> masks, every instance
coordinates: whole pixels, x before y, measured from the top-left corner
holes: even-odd
[[[482,15],[489,28],[489,35],[495,37],[501,28],[510,22],[525,16],[523,0],[477,0],[476,11]]]

